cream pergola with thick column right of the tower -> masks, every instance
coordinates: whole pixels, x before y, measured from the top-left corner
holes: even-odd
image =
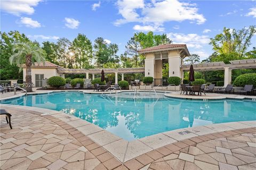
[[[236,69],[256,69],[256,58],[247,60],[234,60],[229,61],[230,64],[225,64],[223,62],[213,62],[213,63],[200,63],[193,64],[194,70],[197,71],[216,71],[224,70],[224,86],[231,83],[231,71]],[[182,71],[188,71],[190,64],[181,65]]]

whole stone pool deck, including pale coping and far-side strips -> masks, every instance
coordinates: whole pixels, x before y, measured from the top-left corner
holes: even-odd
[[[33,94],[45,92],[51,91]],[[178,129],[129,142],[62,112],[0,106],[12,114],[13,126],[1,119],[1,169],[256,168],[256,121]]]

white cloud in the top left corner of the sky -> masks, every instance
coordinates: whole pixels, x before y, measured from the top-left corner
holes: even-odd
[[[42,0],[19,0],[19,1],[1,1],[1,9],[7,13],[17,15],[20,14],[33,14],[35,12],[34,6]]]

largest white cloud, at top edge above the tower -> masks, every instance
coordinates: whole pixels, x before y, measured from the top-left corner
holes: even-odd
[[[185,20],[202,24],[206,21],[202,14],[198,14],[196,4],[182,3],[178,0],[151,1],[146,4],[143,0],[118,0],[116,4],[123,19],[117,20],[115,25],[128,22],[162,25],[164,22]]]

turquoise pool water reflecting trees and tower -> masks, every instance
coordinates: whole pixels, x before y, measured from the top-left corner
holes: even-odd
[[[252,100],[133,100],[117,96],[103,98],[82,92],[54,92],[2,103],[63,111],[129,141],[180,128],[256,120],[256,102]]]

